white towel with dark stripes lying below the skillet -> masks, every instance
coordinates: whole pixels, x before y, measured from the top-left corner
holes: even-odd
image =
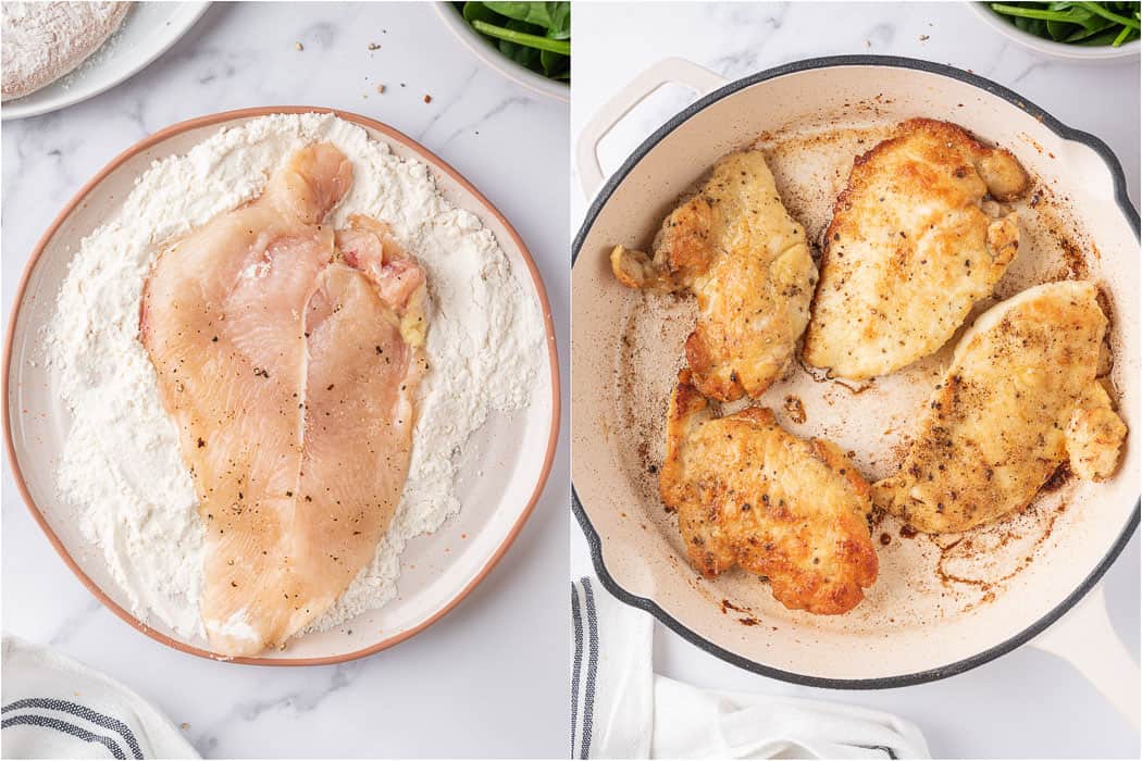
[[[653,618],[597,580],[571,584],[573,759],[926,759],[879,711],[708,690],[653,671]]]

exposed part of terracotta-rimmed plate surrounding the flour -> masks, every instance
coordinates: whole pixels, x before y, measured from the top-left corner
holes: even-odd
[[[41,362],[40,329],[51,318],[79,241],[118,212],[135,179],[153,161],[183,154],[224,126],[270,113],[312,111],[329,110],[265,107],[203,116],[162,130],[118,156],[79,192],[40,240],[24,272],[8,327],[5,434],[16,484],[32,516],[80,581],[112,612],[154,639],[194,655],[220,657],[210,653],[204,639],[184,638],[166,626],[139,622],[112,580],[103,552],[79,529],[74,505],[56,494],[55,472],[70,421],[57,391],[57,373]],[[546,362],[536,379],[531,406],[491,418],[468,442],[459,477],[460,513],[436,533],[409,542],[394,600],[331,631],[291,640],[284,651],[234,658],[239,663],[339,663],[376,653],[425,629],[455,607],[510,545],[542,491],[555,453],[560,419],[555,333],[542,281],[526,246],[475,187],[427,149],[379,122],[355,114],[337,115],[387,143],[396,155],[427,164],[444,197],[476,214],[496,235],[512,267],[533,285],[547,331]]]

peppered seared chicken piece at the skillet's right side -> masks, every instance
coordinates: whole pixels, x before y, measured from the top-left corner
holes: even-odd
[[[927,533],[1026,507],[1062,463],[1113,473],[1126,426],[1095,378],[1107,318],[1092,283],[1039,285],[984,313],[936,387],[900,472],[874,500]]]

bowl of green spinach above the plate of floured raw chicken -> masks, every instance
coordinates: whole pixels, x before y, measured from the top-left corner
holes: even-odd
[[[536,92],[570,99],[570,2],[437,2],[436,11],[492,68]]]

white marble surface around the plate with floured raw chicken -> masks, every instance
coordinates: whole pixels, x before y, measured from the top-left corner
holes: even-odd
[[[380,49],[369,51],[370,42]],[[6,319],[37,238],[108,160],[168,124],[258,105],[357,112],[456,167],[528,242],[565,353],[566,105],[485,68],[428,3],[216,3],[126,83],[50,115],[5,122]],[[562,366],[566,389],[565,354]],[[188,738],[208,756],[562,755],[566,456],[564,443],[531,520],[456,610],[385,653],[309,669],[203,661],[120,622],[56,557],[6,468],[3,628],[121,679],[186,722]]]

